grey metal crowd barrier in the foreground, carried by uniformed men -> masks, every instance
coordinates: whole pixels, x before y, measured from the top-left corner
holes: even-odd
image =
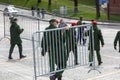
[[[91,25],[79,25],[72,26],[69,30],[57,28],[34,33],[35,80],[40,76],[88,65],[90,27]]]

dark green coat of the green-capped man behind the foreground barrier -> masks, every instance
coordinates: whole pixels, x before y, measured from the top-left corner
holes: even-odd
[[[45,30],[48,29],[56,29],[57,27],[50,25]],[[64,45],[64,37],[62,35],[62,30],[48,31],[44,32],[42,42],[42,55],[45,55],[46,52],[49,53],[50,58],[55,58],[57,60],[65,60],[65,45]],[[56,60],[57,59],[57,60]],[[57,61],[57,62],[60,62]]]

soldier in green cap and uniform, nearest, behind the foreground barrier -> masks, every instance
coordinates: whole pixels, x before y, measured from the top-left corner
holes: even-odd
[[[51,19],[49,21],[50,26],[46,28],[48,29],[56,29],[57,21],[55,19]],[[49,31],[43,34],[42,38],[42,55],[44,56],[46,52],[49,54],[49,65],[50,71],[55,71],[55,64],[57,66],[57,70],[66,68],[66,52],[64,45],[64,38],[61,30]],[[58,80],[62,79],[63,71],[56,72],[53,76],[50,76],[50,80]]]

